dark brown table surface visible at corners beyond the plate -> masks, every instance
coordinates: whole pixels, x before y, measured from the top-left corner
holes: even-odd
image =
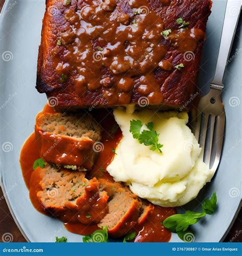
[[[0,11],[2,10],[5,0],[0,0]],[[2,237],[5,233],[11,233],[13,237],[12,242],[26,242],[25,238],[19,231],[14,219],[9,211],[6,200],[3,196],[3,191],[0,188],[0,241],[3,242]],[[242,210],[240,210],[228,236],[224,242],[242,242]]]

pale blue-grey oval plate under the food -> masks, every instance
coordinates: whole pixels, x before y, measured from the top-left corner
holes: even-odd
[[[199,74],[199,86],[203,92],[208,90],[214,74],[225,7],[226,1],[213,1]],[[46,103],[46,96],[39,94],[35,89],[37,53],[44,10],[44,0],[9,0],[2,10],[2,186],[12,215],[28,241],[54,242],[55,236],[66,236],[68,242],[80,242],[81,236],[65,230],[62,222],[35,210],[30,202],[29,191],[23,181],[18,160],[22,144],[34,130],[35,116]],[[232,61],[227,66],[223,92],[227,122],[222,160],[212,182],[202,189],[197,199],[184,207],[195,209],[213,191],[217,193],[216,213],[194,225],[196,242],[223,240],[240,206],[241,47],[238,46],[238,40],[235,40],[231,54]],[[171,241],[180,242],[175,234]]]

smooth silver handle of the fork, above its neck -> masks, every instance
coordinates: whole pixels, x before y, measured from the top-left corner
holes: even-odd
[[[238,24],[241,10],[241,0],[228,0],[224,17],[224,26],[221,36],[219,56],[212,83],[223,86],[225,67],[228,64],[228,57],[232,48],[235,30]]]

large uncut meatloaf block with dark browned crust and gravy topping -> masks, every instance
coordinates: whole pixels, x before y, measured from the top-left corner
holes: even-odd
[[[140,97],[139,105],[187,105],[210,9],[210,0],[46,0],[36,88],[59,109]]]

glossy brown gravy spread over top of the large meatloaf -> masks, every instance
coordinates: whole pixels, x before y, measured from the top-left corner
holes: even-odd
[[[168,0],[160,2],[170,4]],[[65,51],[64,56],[54,51],[53,68],[61,82],[71,77],[79,96],[102,87],[109,105],[128,104],[137,84],[138,93],[151,104],[163,101],[154,71],[158,67],[174,69],[170,61],[163,60],[167,53],[161,35],[163,20],[149,9],[147,0],[131,0],[129,5],[129,15],[119,12],[114,0],[103,4],[86,1],[78,12],[70,8],[65,11],[70,29],[58,37],[59,47]],[[166,40],[178,52],[193,52],[204,35],[201,29],[181,28],[172,31]]]

